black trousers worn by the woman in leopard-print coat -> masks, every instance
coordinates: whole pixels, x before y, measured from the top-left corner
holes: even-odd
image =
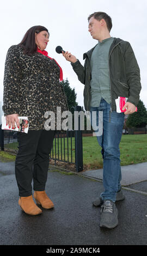
[[[19,151],[15,161],[15,175],[20,197],[32,195],[32,180],[35,191],[45,190],[53,139],[52,130],[18,132]]]

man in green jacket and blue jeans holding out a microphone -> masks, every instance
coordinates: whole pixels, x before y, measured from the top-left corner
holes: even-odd
[[[79,81],[85,84],[84,107],[99,125],[99,112],[103,113],[103,133],[97,136],[102,147],[103,186],[105,191],[93,202],[101,206],[100,227],[114,228],[118,225],[115,202],[125,197],[121,191],[121,168],[119,143],[124,126],[124,114],[136,111],[141,89],[140,71],[129,42],[110,35],[112,20],[106,13],[89,15],[89,32],[98,44],[84,53],[84,67],[69,52],[63,52],[71,62]],[[117,113],[115,99],[127,97],[123,110]],[[91,120],[93,120],[91,118]],[[93,121],[92,121],[93,125]]]

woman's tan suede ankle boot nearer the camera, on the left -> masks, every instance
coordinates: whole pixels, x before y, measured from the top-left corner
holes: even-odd
[[[41,214],[42,210],[34,203],[33,196],[20,197],[19,205],[21,209],[29,215]]]

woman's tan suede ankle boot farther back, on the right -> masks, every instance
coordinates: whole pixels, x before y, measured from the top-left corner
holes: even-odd
[[[45,209],[51,209],[54,207],[53,202],[47,196],[45,191],[34,191],[34,198],[37,204],[41,204],[41,206]]]

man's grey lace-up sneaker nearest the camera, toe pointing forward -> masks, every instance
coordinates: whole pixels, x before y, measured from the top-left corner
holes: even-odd
[[[118,209],[112,200],[104,200],[101,206],[100,227],[115,228],[118,225]]]

